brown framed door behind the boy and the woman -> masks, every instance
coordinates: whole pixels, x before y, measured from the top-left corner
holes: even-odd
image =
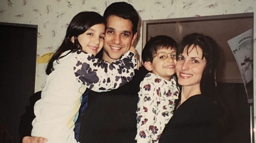
[[[253,111],[253,94],[249,94],[253,92],[248,92],[245,88],[238,64],[227,42],[253,28],[253,19],[253,13],[239,13],[143,21],[143,46],[157,35],[167,35],[180,41],[185,35],[195,32],[212,37],[220,45],[216,82],[229,113],[228,128],[223,133],[224,143],[254,141],[252,137],[256,114],[253,112],[256,110]],[[252,84],[250,88],[253,89]]]

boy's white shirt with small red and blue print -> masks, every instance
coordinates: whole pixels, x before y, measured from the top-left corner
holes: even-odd
[[[157,143],[165,124],[171,119],[179,90],[174,76],[170,81],[148,73],[140,83],[137,108],[138,143]]]

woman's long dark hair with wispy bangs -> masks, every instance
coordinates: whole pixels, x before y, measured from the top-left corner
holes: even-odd
[[[228,116],[228,111],[219,97],[215,82],[215,71],[217,69],[220,56],[219,45],[217,42],[211,37],[203,34],[189,34],[180,41],[176,57],[178,58],[178,56],[183,52],[188,54],[192,50],[191,48],[197,48],[196,46],[200,47],[203,52],[202,59],[203,57],[206,59],[206,65],[200,81],[201,93],[208,96],[213,103],[218,106],[220,121],[224,125]],[[186,48],[186,51],[184,51],[185,47],[190,48]]]

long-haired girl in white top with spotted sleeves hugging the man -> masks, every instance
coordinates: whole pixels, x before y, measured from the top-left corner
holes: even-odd
[[[46,86],[34,105],[32,136],[43,136],[48,143],[76,143],[74,119],[85,89],[109,91],[132,79],[134,47],[111,64],[95,58],[104,42],[103,21],[96,12],[80,12],[72,19],[48,63]]]

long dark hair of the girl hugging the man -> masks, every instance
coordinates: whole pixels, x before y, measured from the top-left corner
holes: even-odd
[[[52,71],[54,71],[53,62],[55,60],[58,60],[66,56],[66,55],[60,56],[63,52],[71,50],[69,53],[74,53],[77,50],[80,50],[82,48],[82,46],[80,45],[77,39],[79,35],[83,34],[86,30],[88,30],[93,25],[103,24],[103,23],[104,23],[103,17],[96,12],[84,11],[76,14],[75,17],[71,20],[67,28],[66,36],[62,44],[59,46],[59,48],[54,53],[54,55],[52,56],[52,58],[48,63],[46,68],[46,74],[49,75]],[[74,43],[71,42],[71,38],[73,37],[75,41]]]

